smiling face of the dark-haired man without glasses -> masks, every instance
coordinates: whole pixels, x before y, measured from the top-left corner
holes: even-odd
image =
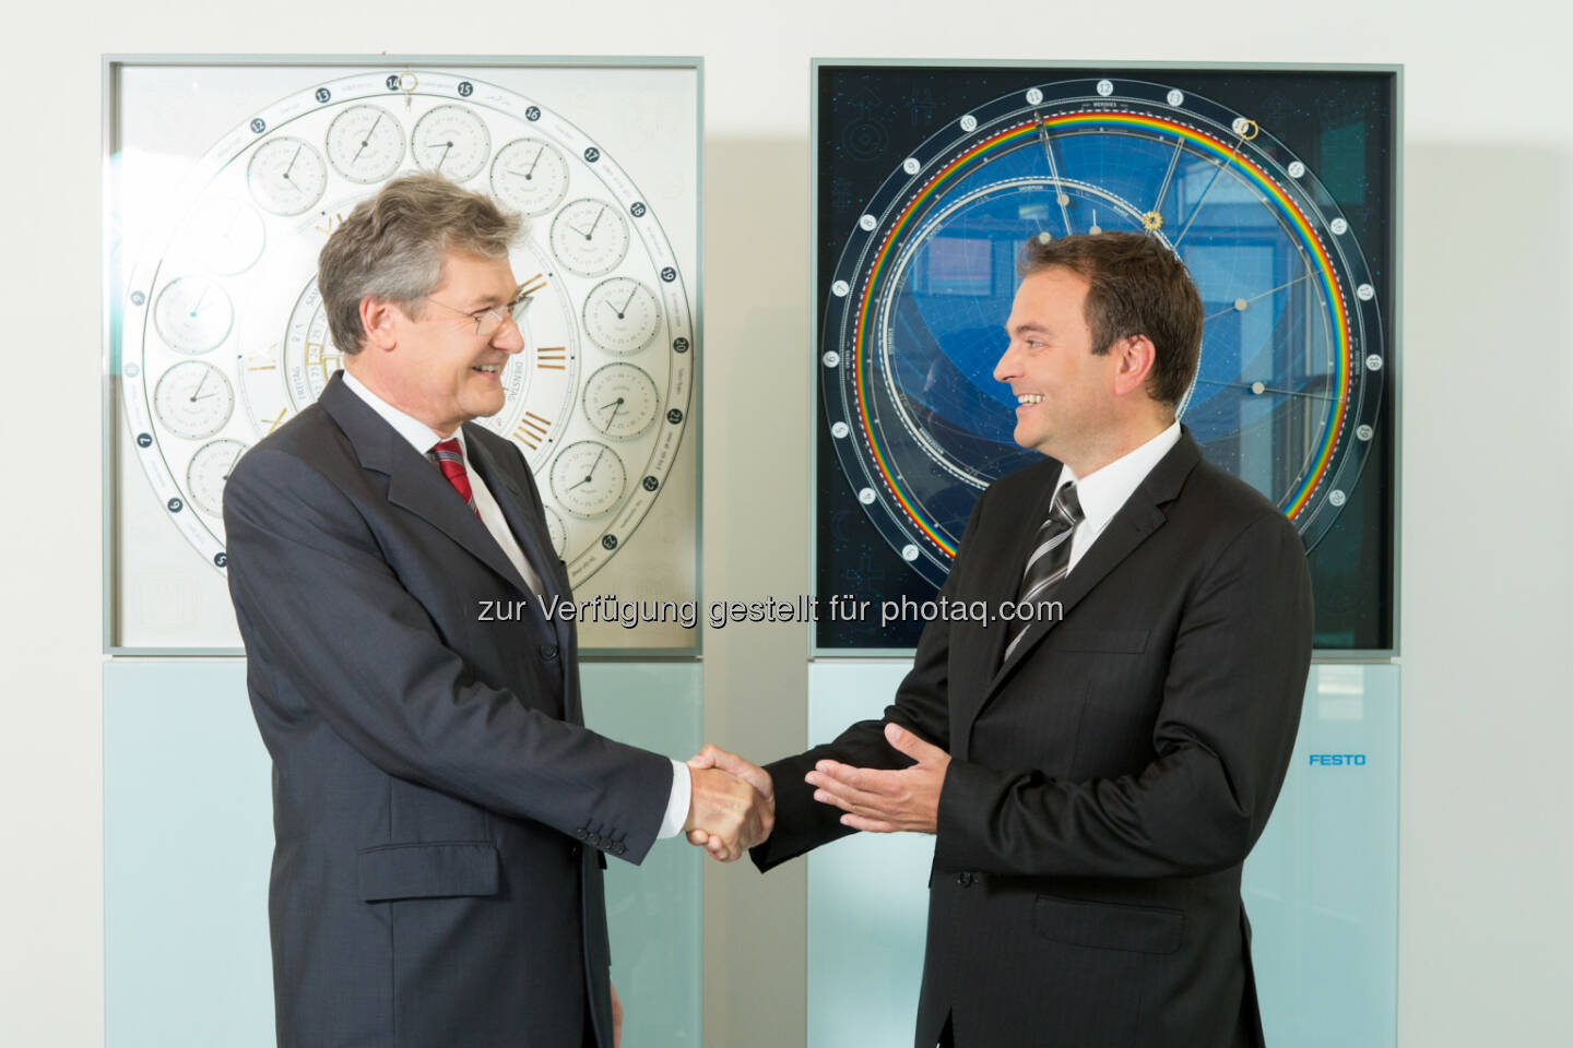
[[[1016,443],[1071,464],[1078,475],[1122,409],[1123,355],[1093,354],[1087,286],[1062,266],[1024,278],[1005,322],[1010,346],[994,366],[1016,394]]]

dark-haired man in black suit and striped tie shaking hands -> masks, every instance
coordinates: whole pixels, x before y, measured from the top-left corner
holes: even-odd
[[[1044,462],[978,500],[882,720],[758,768],[760,869],[938,834],[917,1048],[1262,1043],[1240,870],[1310,663],[1295,528],[1175,420],[1202,306],[1156,239],[1027,245],[994,377]],[[694,833],[697,844],[711,844]]]

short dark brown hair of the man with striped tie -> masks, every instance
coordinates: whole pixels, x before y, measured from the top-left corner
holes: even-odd
[[[1184,262],[1156,237],[1090,233],[1032,237],[1016,272],[1026,278],[1052,266],[1089,283],[1092,352],[1103,355],[1122,338],[1145,335],[1155,352],[1147,394],[1169,407],[1180,404],[1202,355],[1202,295]]]

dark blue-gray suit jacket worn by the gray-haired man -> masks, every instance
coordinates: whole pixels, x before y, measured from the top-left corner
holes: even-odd
[[[522,456],[464,435],[566,595]],[[573,624],[340,376],[241,459],[223,519],[274,759],[280,1046],[610,1048],[602,852],[643,859],[672,765],[582,727]]]

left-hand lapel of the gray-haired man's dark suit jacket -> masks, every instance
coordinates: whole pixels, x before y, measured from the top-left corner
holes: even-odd
[[[486,531],[486,525],[464,504],[442,471],[382,421],[365,401],[344,388],[341,374],[333,374],[318,402],[349,437],[360,465],[389,478],[390,503],[442,531],[513,584],[521,595],[530,595],[519,572]]]

